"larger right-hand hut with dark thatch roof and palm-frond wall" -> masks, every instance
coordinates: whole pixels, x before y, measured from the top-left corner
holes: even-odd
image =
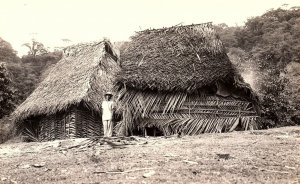
[[[127,133],[136,127],[164,134],[228,131],[241,119],[244,129],[255,128],[257,98],[211,23],[138,32],[121,50],[121,65],[119,128]]]

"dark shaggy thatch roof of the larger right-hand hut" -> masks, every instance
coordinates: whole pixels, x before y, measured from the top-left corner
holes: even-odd
[[[193,92],[237,77],[211,23],[137,32],[121,62],[117,84],[140,90]]]

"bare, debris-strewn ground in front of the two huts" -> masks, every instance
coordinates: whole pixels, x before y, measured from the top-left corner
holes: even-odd
[[[0,183],[300,183],[300,127],[0,145]]]

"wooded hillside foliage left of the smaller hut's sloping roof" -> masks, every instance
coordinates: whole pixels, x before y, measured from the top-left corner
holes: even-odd
[[[0,62],[5,63],[11,78],[9,86],[13,89],[14,103],[20,104],[34,90],[43,77],[44,71],[58,60],[61,52],[37,52],[19,58],[11,45],[0,38]]]

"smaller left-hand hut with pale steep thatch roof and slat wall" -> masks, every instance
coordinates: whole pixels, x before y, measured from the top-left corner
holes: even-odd
[[[37,131],[35,134],[42,135],[45,132],[41,131],[49,131],[49,127],[44,128],[43,125],[55,127],[57,122],[62,122],[63,119],[65,125],[59,125],[64,126],[59,128],[60,131],[70,131],[66,130],[66,126],[70,126],[70,119],[74,117],[72,123],[78,130],[73,131],[74,136],[88,136],[82,129],[90,126],[88,123],[91,122],[95,126],[99,124],[97,130],[91,134],[100,133],[99,108],[104,93],[113,87],[115,73],[119,70],[117,59],[116,52],[107,40],[65,48],[63,58],[48,71],[48,76],[16,109],[14,112],[16,121],[25,126],[23,129],[28,129],[27,125],[34,124],[33,129]],[[83,120],[78,122],[81,125],[76,124],[76,118],[80,118],[80,113],[77,112],[79,110],[85,112],[81,113]],[[89,114],[93,114],[93,117]],[[95,122],[98,118],[100,122]],[[90,119],[91,122],[86,119]],[[48,137],[43,136],[41,139],[44,140],[68,137],[68,135],[52,135],[49,132]]]

